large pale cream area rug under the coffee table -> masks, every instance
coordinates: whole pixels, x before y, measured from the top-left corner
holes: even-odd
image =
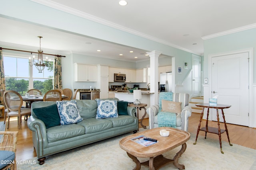
[[[43,165],[39,165],[37,158],[27,160],[25,164],[17,164],[18,170],[132,170],[135,163],[124,150],[119,147],[119,140],[132,133],[112,137],[100,142],[85,145],[46,157]],[[255,170],[256,150],[236,144],[230,146],[222,142],[220,152],[219,141],[204,139],[199,136],[196,145],[195,135],[191,134],[186,143],[187,149],[179,158],[179,163],[185,165],[186,170]],[[172,159],[180,147],[164,154]],[[146,161],[146,158],[138,158]],[[34,163],[34,162],[36,163]],[[177,170],[173,164],[164,166],[160,170]],[[148,170],[141,166],[141,170]]]

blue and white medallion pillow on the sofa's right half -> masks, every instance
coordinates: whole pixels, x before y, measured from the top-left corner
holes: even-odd
[[[97,105],[96,118],[118,117],[116,100],[97,100]]]

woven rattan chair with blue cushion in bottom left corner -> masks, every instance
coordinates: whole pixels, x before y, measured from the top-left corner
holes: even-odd
[[[0,164],[0,169],[16,170],[16,145],[18,131],[0,131],[0,135],[2,135],[2,142],[0,145],[0,160],[2,162]]]

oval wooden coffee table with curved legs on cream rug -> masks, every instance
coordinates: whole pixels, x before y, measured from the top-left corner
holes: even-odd
[[[160,130],[163,129],[169,131],[170,135],[168,137],[160,136]],[[140,135],[157,139],[158,142],[145,147],[131,140],[132,138]],[[136,163],[134,170],[139,170],[141,165],[149,167],[150,170],[158,170],[159,168],[162,168],[163,166],[172,162],[179,170],[182,170],[185,169],[185,166],[178,163],[178,158],[180,158],[180,156],[185,152],[187,146],[186,141],[189,139],[190,133],[186,131],[171,127],[158,127],[124,137],[119,141],[119,146],[125,150],[133,162]],[[168,152],[180,145],[182,145],[182,147],[180,151],[176,153],[173,159],[164,158],[162,155],[163,153]],[[149,160],[140,163],[137,157],[149,158]]]

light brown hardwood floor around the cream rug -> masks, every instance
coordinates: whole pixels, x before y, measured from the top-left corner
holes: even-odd
[[[192,113],[192,116],[189,118],[189,128],[188,132],[196,134],[198,129],[198,123],[200,120],[200,114]],[[0,118],[0,121],[4,121],[3,118]],[[201,127],[205,126],[206,121],[203,120],[201,123]],[[143,120],[143,125],[148,126],[148,119]],[[217,122],[215,121],[209,121],[208,126],[211,127],[218,127]],[[224,128],[224,123],[220,123],[221,129]],[[242,145],[244,147],[249,147],[252,149],[256,149],[256,129],[250,128],[250,127],[244,127],[240,125],[232,125],[227,124],[228,127],[228,133],[230,137],[231,143],[235,143],[237,145]],[[18,122],[16,118],[11,118],[10,121],[10,127],[6,131],[18,131],[18,142],[17,142],[17,153],[16,153],[16,159],[17,160],[26,160],[29,158],[36,157],[36,152],[34,151],[33,143],[32,143],[32,131],[28,129],[26,125],[26,121],[22,119],[22,127],[19,130],[18,129]],[[204,136],[205,133],[203,131],[200,131],[199,135]],[[225,133],[222,133],[221,135],[222,141],[228,142],[228,138]],[[216,139],[219,140],[218,135],[207,133],[207,138]],[[198,141],[199,143],[200,141]]]

